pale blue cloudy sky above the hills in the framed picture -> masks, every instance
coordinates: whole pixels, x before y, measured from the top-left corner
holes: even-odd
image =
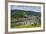
[[[23,6],[23,5],[11,5],[11,10],[25,10],[41,12],[41,6]]]

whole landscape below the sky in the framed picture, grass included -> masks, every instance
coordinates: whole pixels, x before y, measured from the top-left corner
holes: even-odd
[[[11,28],[35,28],[40,26],[40,12],[11,10]]]

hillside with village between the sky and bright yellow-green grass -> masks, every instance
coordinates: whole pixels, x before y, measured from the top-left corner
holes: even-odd
[[[32,11],[14,10],[11,12],[12,27],[26,24],[41,24],[40,13]]]

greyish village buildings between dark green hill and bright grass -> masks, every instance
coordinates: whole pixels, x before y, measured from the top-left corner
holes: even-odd
[[[39,20],[37,20],[38,16],[27,16],[27,18],[20,18],[16,20],[16,24],[34,24],[39,23]]]

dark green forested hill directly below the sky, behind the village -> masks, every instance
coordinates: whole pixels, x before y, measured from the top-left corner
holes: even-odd
[[[24,14],[24,12],[25,12],[25,14]],[[11,16],[13,16],[13,17],[21,17],[21,18],[23,18],[24,15],[33,15],[33,16],[41,17],[40,12],[24,11],[24,10],[11,10]]]

